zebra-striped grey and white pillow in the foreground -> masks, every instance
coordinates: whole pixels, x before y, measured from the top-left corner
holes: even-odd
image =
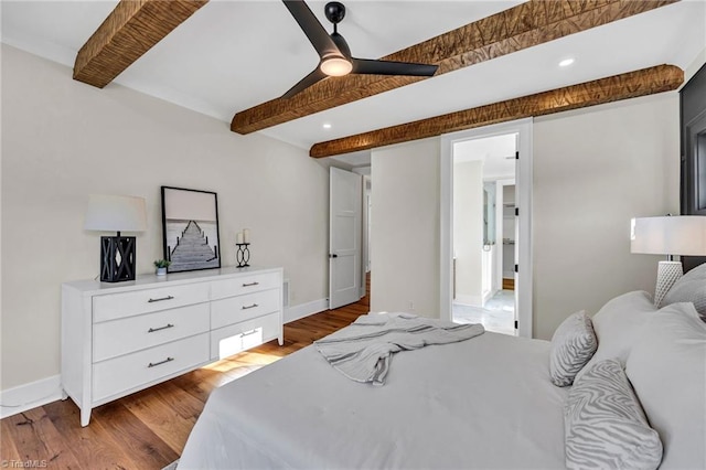
[[[650,428],[620,362],[597,362],[564,408],[568,469],[656,469],[662,441]]]

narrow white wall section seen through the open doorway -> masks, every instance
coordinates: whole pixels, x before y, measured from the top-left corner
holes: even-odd
[[[456,300],[482,306],[483,161],[453,163]]]

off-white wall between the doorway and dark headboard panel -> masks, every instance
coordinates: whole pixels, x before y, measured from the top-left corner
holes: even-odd
[[[678,213],[676,92],[534,121],[535,335],[612,297],[654,292],[660,257],[630,254],[630,218]]]

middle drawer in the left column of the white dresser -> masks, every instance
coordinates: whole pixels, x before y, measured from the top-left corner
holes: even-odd
[[[208,303],[196,303],[95,323],[93,362],[208,331]]]

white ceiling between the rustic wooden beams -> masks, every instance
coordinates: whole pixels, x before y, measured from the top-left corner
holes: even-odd
[[[3,0],[2,42],[73,66],[78,49],[116,3]],[[325,1],[308,3],[330,30]],[[347,11],[339,32],[355,56],[376,58],[520,1],[344,3]],[[324,140],[663,63],[687,68],[704,47],[706,1],[684,0],[260,132],[309,149]],[[576,63],[559,68],[557,63],[569,56]],[[213,116],[228,131],[236,111],[280,96],[317,63],[311,44],[280,1],[212,0],[115,83]],[[331,129],[323,129],[324,122]]]

